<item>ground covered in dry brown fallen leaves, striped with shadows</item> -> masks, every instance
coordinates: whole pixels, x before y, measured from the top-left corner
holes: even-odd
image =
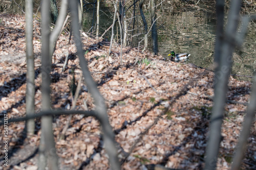
[[[25,18],[0,14],[0,117],[25,116],[26,45]],[[79,59],[73,40],[61,35],[57,41],[51,72],[52,109],[70,109],[71,67],[79,80]],[[152,169],[149,164],[169,168],[202,169],[209,117],[214,95],[214,72],[193,64],[175,63],[131,47],[82,37],[89,69],[105,99],[116,135],[122,169]],[[34,21],[35,112],[41,109],[40,27]],[[62,71],[66,56],[69,61]],[[193,57],[193,56],[192,56]],[[136,59],[139,60],[136,63]],[[144,59],[144,60],[143,60]],[[145,60],[146,59],[146,60]],[[250,82],[229,78],[217,169],[229,169],[249,101]],[[76,103],[77,110],[94,109],[86,84]],[[167,112],[164,112],[168,108]],[[109,169],[100,125],[93,117],[74,115],[65,140],[58,140],[68,116],[54,116],[53,133],[60,169]],[[4,127],[0,127],[0,169],[37,169],[40,118],[36,134],[24,135],[24,122],[8,124],[8,166],[4,165]],[[150,127],[149,129],[147,129]],[[148,130],[148,131],[146,131]],[[146,131],[146,133],[144,133]],[[251,128],[242,169],[256,169],[256,123]],[[133,147],[134,146],[134,147]],[[147,167],[147,168],[146,168]]]

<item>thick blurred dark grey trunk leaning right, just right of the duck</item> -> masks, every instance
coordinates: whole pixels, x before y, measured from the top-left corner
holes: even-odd
[[[234,51],[233,39],[237,35],[238,17],[241,0],[231,2],[225,38],[223,39],[220,54],[220,65],[215,73],[214,107],[210,121],[210,134],[206,148],[206,160],[204,169],[215,169],[218,160],[221,142],[221,125],[223,122],[223,110],[226,103],[226,91],[230,74],[232,53]],[[218,51],[218,49],[216,49]]]

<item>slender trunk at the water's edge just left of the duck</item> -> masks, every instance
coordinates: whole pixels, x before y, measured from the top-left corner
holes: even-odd
[[[153,45],[153,52],[155,55],[158,55],[158,37],[157,37],[157,13],[156,13],[156,0],[150,0],[151,4],[151,10],[150,10],[150,16],[151,16],[151,23],[153,25],[152,27],[152,45]]]

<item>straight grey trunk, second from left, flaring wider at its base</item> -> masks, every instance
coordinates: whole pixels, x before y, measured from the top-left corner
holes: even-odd
[[[42,36],[42,111],[51,111],[50,99],[50,1],[42,1],[41,7],[41,36]],[[58,169],[58,159],[56,155],[55,142],[52,129],[52,116],[42,116],[41,118],[41,140],[39,146],[38,169],[45,169],[48,159],[49,169]]]

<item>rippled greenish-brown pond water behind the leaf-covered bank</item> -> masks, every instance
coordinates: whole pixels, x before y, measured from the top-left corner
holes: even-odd
[[[104,33],[113,22],[113,9],[110,7],[101,7],[100,10],[100,34]],[[139,13],[137,13],[139,15]],[[151,26],[150,13],[145,11],[148,29]],[[127,13],[126,15],[129,15]],[[212,68],[214,61],[214,47],[215,47],[215,30],[216,17],[214,13],[208,10],[190,8],[186,10],[177,10],[171,7],[161,7],[158,10],[159,19],[158,26],[158,49],[159,54],[167,58],[170,51],[175,53],[190,53],[191,63],[197,66]],[[96,22],[96,9],[94,16],[94,24],[92,24],[93,8],[89,8],[84,12],[84,31],[89,31]],[[128,18],[128,17],[127,17]],[[138,34],[133,39],[132,46],[137,46],[137,42],[143,37],[143,26],[141,17],[138,16],[140,25],[135,24],[139,28],[134,34]],[[127,23],[130,23],[128,20]],[[248,33],[243,44],[243,47],[236,50],[233,54],[233,66],[231,74],[252,76],[256,69],[256,24],[250,22]],[[115,33],[116,33],[115,27]],[[91,29],[89,32],[91,32]],[[119,30],[119,28],[118,28]],[[132,30],[131,28],[129,30]],[[119,33],[118,33],[119,34]],[[131,34],[131,32],[130,32]],[[149,34],[151,35],[151,34]],[[104,38],[111,37],[111,30],[105,34]],[[149,49],[151,50],[151,39],[149,40]],[[251,78],[236,77],[239,80],[251,81]]]

